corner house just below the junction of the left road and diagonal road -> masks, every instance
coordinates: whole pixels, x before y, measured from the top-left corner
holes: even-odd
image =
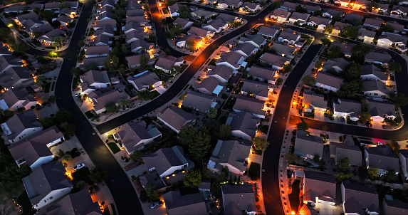
[[[156,138],[162,137],[162,133],[153,128],[147,130],[146,122],[127,122],[113,135],[113,138],[122,143],[122,147],[128,154],[136,150],[143,150],[146,145],[152,143]]]

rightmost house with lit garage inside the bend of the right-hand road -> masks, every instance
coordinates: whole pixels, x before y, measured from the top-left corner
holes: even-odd
[[[397,111],[395,105],[387,100],[367,98],[367,104],[371,114],[372,121],[384,122],[384,120],[394,120],[397,118]]]

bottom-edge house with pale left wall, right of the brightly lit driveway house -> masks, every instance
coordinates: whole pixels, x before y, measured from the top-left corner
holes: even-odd
[[[378,194],[371,184],[343,181],[340,191],[345,214],[380,214]]]

